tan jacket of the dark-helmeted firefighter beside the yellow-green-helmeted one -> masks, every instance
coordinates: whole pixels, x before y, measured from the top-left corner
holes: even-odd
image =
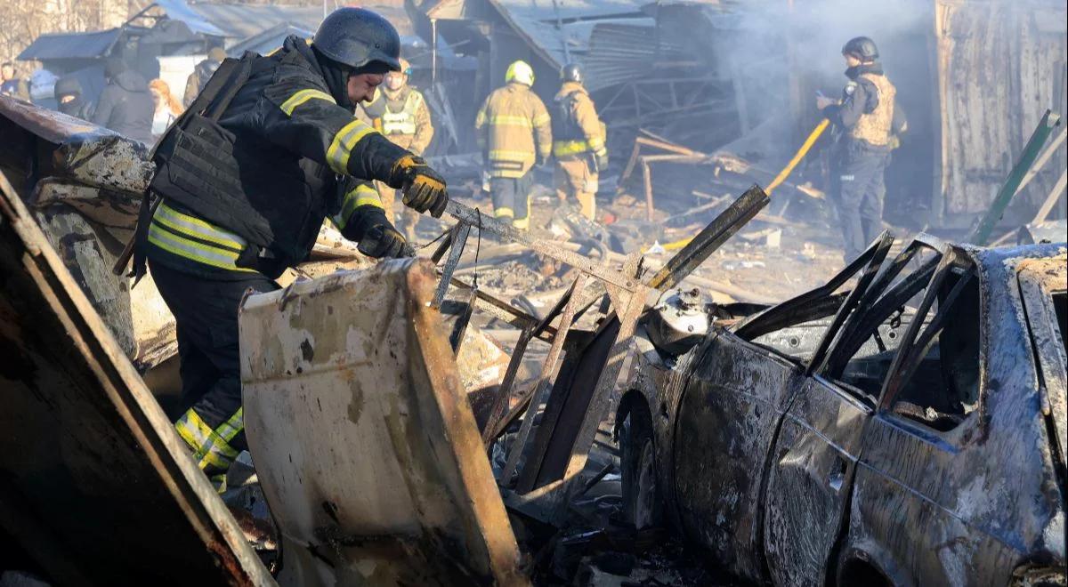
[[[564,82],[554,98],[552,117],[552,155],[562,161],[592,153],[604,155],[604,125],[597,117],[594,101],[581,83]]]

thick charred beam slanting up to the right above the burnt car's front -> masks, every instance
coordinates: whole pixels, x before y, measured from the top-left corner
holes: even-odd
[[[768,194],[754,184],[664,264],[660,271],[649,279],[647,285],[660,291],[675,287],[767,206],[768,201]]]

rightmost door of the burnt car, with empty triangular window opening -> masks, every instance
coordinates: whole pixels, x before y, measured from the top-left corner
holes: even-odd
[[[1007,330],[988,339],[980,290],[981,303],[1005,304],[992,310],[1005,323],[1018,322],[1016,297],[991,296],[973,258],[946,248],[864,432],[839,583],[873,575],[894,585],[1008,582],[1024,542],[1010,521],[1035,506],[1018,497],[1037,476],[1025,464],[1028,408],[1012,397],[1027,387],[1030,358]],[[1014,358],[990,365],[990,345]],[[992,381],[1006,410],[984,404],[991,368],[1004,369]],[[1010,428],[1008,437],[999,432]]]

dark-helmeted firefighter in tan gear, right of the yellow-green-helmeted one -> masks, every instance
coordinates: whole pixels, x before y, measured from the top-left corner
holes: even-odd
[[[560,70],[563,84],[556,93],[552,117],[552,155],[556,160],[553,183],[556,196],[576,200],[582,216],[594,220],[598,172],[608,168],[604,125],[590,93],[582,86],[582,69],[569,63]]]

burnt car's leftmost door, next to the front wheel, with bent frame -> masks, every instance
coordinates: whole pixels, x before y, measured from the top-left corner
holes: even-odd
[[[834,319],[828,330],[836,330],[892,242],[884,234],[827,285],[753,316],[734,332],[716,330],[696,351],[675,422],[675,503],[687,534],[733,574],[763,580],[765,463],[806,369],[788,348],[752,340],[829,316]],[[861,270],[853,292],[835,294]]]

